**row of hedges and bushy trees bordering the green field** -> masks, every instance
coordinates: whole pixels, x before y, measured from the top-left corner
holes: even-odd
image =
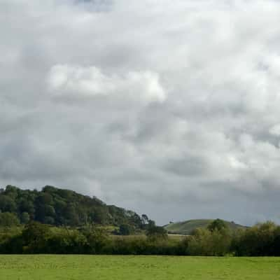
[[[231,231],[217,219],[184,238],[169,237],[152,221],[145,235],[110,235],[104,226],[55,227],[31,221],[0,231],[0,253],[122,255],[280,255],[280,227],[272,222]]]

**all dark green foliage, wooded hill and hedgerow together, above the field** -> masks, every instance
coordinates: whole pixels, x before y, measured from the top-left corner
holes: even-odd
[[[148,216],[96,197],[45,186],[0,190],[0,253],[280,255],[272,222],[232,230],[214,220],[185,238],[170,238]]]

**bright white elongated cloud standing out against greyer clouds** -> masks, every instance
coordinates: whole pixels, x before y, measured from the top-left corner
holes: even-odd
[[[81,95],[117,95],[145,103],[166,99],[158,74],[151,71],[130,71],[121,77],[106,76],[94,66],[55,65],[50,69],[48,84],[55,94],[70,94],[77,98]]]

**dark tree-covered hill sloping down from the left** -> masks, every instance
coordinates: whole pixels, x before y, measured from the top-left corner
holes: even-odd
[[[146,215],[141,217],[134,211],[107,205],[97,197],[52,186],[45,186],[41,191],[22,190],[15,186],[0,189],[0,212],[13,214],[22,224],[29,221],[74,227],[89,223],[127,224],[138,229],[148,221]]]

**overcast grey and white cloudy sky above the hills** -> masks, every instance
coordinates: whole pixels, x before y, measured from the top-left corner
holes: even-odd
[[[1,0],[0,186],[280,223],[279,18],[276,0]]]

